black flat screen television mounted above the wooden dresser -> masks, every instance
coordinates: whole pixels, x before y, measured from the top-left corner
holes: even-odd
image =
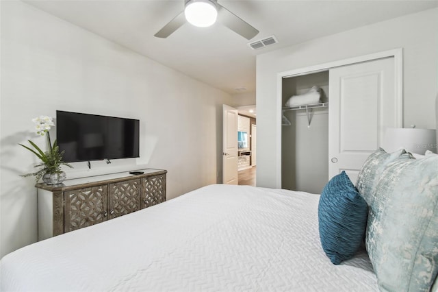
[[[139,156],[140,121],[56,111],[56,138],[65,162]]]

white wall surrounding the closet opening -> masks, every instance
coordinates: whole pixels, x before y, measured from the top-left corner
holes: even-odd
[[[435,127],[438,9],[318,38],[257,56],[257,186],[281,186],[277,73],[403,48],[403,123]],[[302,29],[305,29],[304,27]]]

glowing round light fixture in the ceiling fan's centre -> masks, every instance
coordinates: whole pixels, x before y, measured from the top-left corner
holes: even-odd
[[[216,1],[185,0],[185,19],[197,27],[209,27],[218,18]]]

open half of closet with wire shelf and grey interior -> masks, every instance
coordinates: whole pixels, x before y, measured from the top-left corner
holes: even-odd
[[[292,95],[321,88],[321,103],[285,107]],[[282,83],[281,188],[320,193],[329,177],[329,71],[285,77]]]

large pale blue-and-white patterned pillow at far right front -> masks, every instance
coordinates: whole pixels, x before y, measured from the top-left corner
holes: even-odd
[[[382,291],[429,291],[438,274],[438,156],[390,162],[376,184],[366,248]]]

